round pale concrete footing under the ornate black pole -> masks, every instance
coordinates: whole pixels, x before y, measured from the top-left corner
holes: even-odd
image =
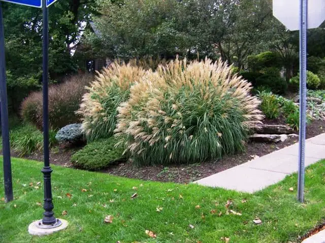
[[[41,220],[37,220],[29,224],[28,233],[31,235],[49,235],[54,232],[66,229],[68,227],[68,221],[64,219],[57,219],[57,222],[53,225],[44,225]]]

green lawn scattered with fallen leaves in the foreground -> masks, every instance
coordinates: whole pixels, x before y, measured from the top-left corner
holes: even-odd
[[[35,187],[42,181],[42,164],[12,159],[12,167],[15,200],[9,204],[0,200],[0,242],[212,243],[222,242],[221,237],[241,243],[296,242],[299,235],[325,218],[325,160],[306,171],[306,204],[296,200],[297,175],[261,192],[247,194],[53,166],[54,211],[70,225],[51,236],[30,236],[28,224],[43,213],[39,206],[43,182]],[[4,185],[0,171],[1,198]],[[138,197],[131,199],[135,192]],[[67,193],[72,196],[69,198]],[[228,200],[233,203],[230,209],[242,215],[226,214]],[[157,212],[157,207],[163,209]],[[62,216],[63,211],[68,214]],[[114,217],[113,223],[104,223],[107,215]],[[255,217],[263,223],[255,225]],[[145,230],[153,231],[156,238],[147,236]]]

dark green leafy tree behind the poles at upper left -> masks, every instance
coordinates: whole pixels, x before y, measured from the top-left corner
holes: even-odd
[[[84,22],[96,14],[95,0],[58,1],[49,9],[49,74],[59,79],[77,70],[71,51]],[[3,4],[9,97],[14,110],[42,77],[42,11]]]

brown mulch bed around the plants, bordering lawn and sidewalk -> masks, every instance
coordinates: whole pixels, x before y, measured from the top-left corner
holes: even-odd
[[[282,117],[277,120],[264,120],[264,124],[285,124]],[[314,120],[307,127],[306,138],[317,136],[325,131],[325,121]],[[298,142],[298,138],[289,138],[285,142],[280,143],[255,143],[251,142],[247,145],[245,153],[224,156],[222,159],[207,161],[201,164],[192,165],[171,165],[171,166],[155,166],[155,167],[135,167],[131,163],[122,163],[112,166],[102,171],[115,176],[123,176],[128,178],[137,178],[141,180],[152,180],[161,182],[189,183],[201,178],[213,175],[215,173],[230,169],[237,165],[246,163],[254,156],[263,156],[275,150],[284,148]],[[54,148],[50,152],[50,163],[54,165],[73,167],[70,163],[71,155],[80,148],[70,148],[64,145]],[[25,155],[24,158],[43,160],[43,152],[37,151],[31,155]],[[12,151],[12,156],[19,156]]]

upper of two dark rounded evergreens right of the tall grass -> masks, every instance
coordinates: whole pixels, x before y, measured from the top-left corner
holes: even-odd
[[[276,52],[263,52],[256,56],[248,56],[247,60],[248,67],[252,72],[260,72],[264,68],[273,68],[272,71],[270,69],[271,73],[266,72],[266,74],[273,74],[276,71],[279,73],[282,66],[280,55]]]

